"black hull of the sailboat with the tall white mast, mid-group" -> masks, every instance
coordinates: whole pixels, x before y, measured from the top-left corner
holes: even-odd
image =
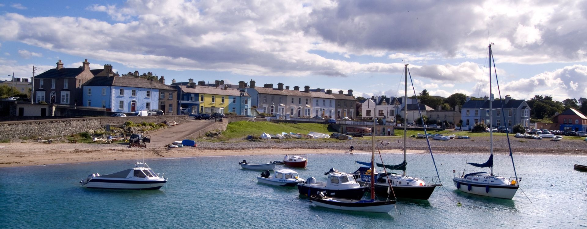
[[[365,186],[365,182],[359,182],[361,185]],[[395,194],[396,198],[408,198],[408,199],[418,199],[418,200],[427,200],[430,198],[436,186],[440,186],[440,184],[433,184],[433,185],[423,185],[423,186],[398,186],[393,185],[393,193]],[[389,184],[383,183],[375,183],[375,194],[380,196],[393,196],[391,193],[387,193],[389,190]]]

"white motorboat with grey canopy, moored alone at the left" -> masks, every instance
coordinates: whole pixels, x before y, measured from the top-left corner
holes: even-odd
[[[79,183],[95,189],[160,189],[167,182],[165,173],[159,176],[144,162],[137,162],[134,168],[109,175],[94,173]]]

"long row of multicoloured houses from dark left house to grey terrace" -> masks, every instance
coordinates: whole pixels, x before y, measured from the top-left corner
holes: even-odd
[[[322,88],[311,90],[299,86],[290,90],[279,83],[256,87],[255,81],[240,81],[238,85],[225,84],[224,80],[177,82],[165,84],[163,76],[153,73],[119,75],[112,65],[104,69],[92,69],[90,63],[65,68],[61,60],[55,69],[50,69],[33,78],[34,102],[68,105],[71,107],[103,108],[106,111],[131,113],[141,110],[159,109],[166,115],[200,113],[224,113],[236,115],[284,115],[290,117],[355,118],[356,99],[353,91],[347,94],[340,90]],[[43,110],[41,112],[48,112]],[[33,114],[39,115],[39,114]],[[47,114],[40,114],[44,116]]]

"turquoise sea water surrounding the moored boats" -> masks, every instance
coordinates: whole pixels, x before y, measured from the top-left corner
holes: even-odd
[[[585,228],[587,164],[580,156],[515,156],[522,190],[513,200],[456,191],[453,169],[462,173],[465,160],[487,156],[434,155],[444,184],[429,200],[399,200],[397,211],[357,213],[316,207],[298,190],[258,184],[261,171],[238,165],[279,160],[283,155],[226,156],[146,160],[157,173],[167,173],[161,190],[86,189],[79,180],[91,173],[130,168],[133,161],[2,168],[0,228]],[[370,155],[307,155],[301,177],[322,181],[330,168],[354,172],[355,160]],[[383,155],[399,163],[402,155]],[[408,173],[436,176],[430,155],[408,155]],[[507,156],[497,156],[494,172],[513,175]],[[278,165],[276,169],[282,168]],[[472,169],[467,166],[466,169]],[[451,199],[457,199],[458,207]]]

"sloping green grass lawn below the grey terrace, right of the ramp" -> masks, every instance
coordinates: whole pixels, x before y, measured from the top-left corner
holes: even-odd
[[[247,135],[261,136],[263,132],[267,134],[281,134],[281,132],[288,134],[289,132],[308,134],[310,131],[328,135],[336,132],[335,129],[329,129],[328,125],[325,124],[239,121],[228,124],[226,131],[222,132],[222,136],[227,139],[232,139],[244,138]]]

